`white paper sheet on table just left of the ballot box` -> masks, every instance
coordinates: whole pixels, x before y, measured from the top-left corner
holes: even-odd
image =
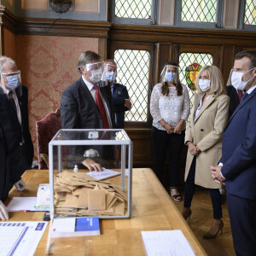
[[[13,197],[8,212],[49,212],[49,207],[36,207],[37,197]]]

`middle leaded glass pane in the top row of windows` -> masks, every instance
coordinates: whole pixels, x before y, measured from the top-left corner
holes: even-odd
[[[216,22],[218,0],[182,0],[181,20]]]

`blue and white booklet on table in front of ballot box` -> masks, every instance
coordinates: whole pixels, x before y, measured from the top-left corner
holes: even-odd
[[[99,236],[98,217],[55,218],[52,224],[51,237]]]

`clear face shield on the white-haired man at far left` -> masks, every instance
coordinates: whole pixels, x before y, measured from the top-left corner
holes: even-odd
[[[1,73],[1,87],[7,90],[19,89],[21,95],[22,88],[20,70],[17,70],[12,73]]]

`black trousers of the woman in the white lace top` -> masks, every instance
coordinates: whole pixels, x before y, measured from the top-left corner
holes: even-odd
[[[183,149],[185,131],[181,134],[168,134],[152,127],[152,139],[154,145],[154,173],[160,182],[164,181],[166,154],[170,161],[168,168],[169,186],[177,187],[178,180],[178,160]]]

